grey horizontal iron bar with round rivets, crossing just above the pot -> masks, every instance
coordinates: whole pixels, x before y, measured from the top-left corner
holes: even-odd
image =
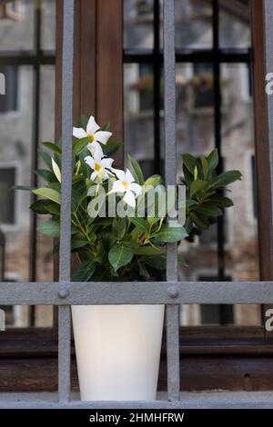
[[[0,305],[273,303],[273,282],[0,283]]]

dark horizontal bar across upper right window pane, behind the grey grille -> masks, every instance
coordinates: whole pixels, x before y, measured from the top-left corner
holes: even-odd
[[[155,53],[152,49],[125,49],[123,62],[131,63],[153,63]],[[163,51],[158,54],[163,63]],[[176,49],[177,63],[250,63],[251,55],[248,49],[240,50],[191,50]]]

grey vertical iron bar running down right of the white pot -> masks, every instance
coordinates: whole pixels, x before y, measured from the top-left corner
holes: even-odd
[[[175,4],[164,1],[165,178],[177,184]],[[167,245],[167,281],[177,281],[177,244]],[[179,400],[179,306],[167,305],[167,394]]]

